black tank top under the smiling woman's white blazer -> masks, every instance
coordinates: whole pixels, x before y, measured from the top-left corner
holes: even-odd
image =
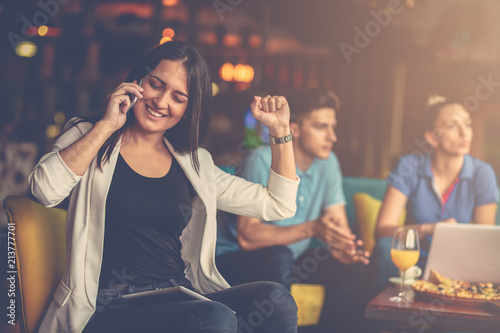
[[[175,158],[169,172],[149,178],[118,157],[106,200],[100,289],[150,285],[184,275],[179,237],[196,192]]]

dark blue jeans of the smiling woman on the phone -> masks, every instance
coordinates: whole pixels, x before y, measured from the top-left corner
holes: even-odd
[[[297,331],[297,306],[280,284],[247,283],[205,296],[213,302],[132,303],[117,298],[96,311],[84,332]]]

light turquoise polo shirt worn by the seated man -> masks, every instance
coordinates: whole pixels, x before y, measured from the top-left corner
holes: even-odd
[[[267,185],[271,169],[271,147],[259,147],[245,160],[241,177],[254,183]],[[321,216],[323,209],[336,204],[345,205],[342,189],[342,173],[337,156],[332,152],[326,160],[314,159],[305,172],[296,168],[300,177],[297,190],[297,212],[295,216],[281,221],[265,221],[266,223],[289,226],[314,220]],[[217,231],[216,256],[238,251],[236,239],[236,217],[225,214],[219,219]],[[304,239],[288,245],[294,258],[300,256],[309,247],[310,239]]]

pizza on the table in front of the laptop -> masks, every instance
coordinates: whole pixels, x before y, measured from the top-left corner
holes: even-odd
[[[417,292],[475,300],[500,300],[500,286],[493,283],[470,283],[453,280],[431,270],[429,280],[412,284]]]

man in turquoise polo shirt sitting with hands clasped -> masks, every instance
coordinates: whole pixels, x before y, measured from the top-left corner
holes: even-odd
[[[364,311],[361,281],[369,254],[359,250],[362,242],[349,228],[342,174],[332,152],[337,141],[338,98],[314,88],[288,100],[295,164],[301,178],[297,212],[283,221],[245,216],[222,219],[216,264],[231,285],[261,280],[287,287],[291,283],[322,284],[325,303],[318,330],[355,332]],[[267,184],[270,166],[270,147],[259,147],[246,159],[240,176]],[[313,238],[323,246],[310,248]]]

